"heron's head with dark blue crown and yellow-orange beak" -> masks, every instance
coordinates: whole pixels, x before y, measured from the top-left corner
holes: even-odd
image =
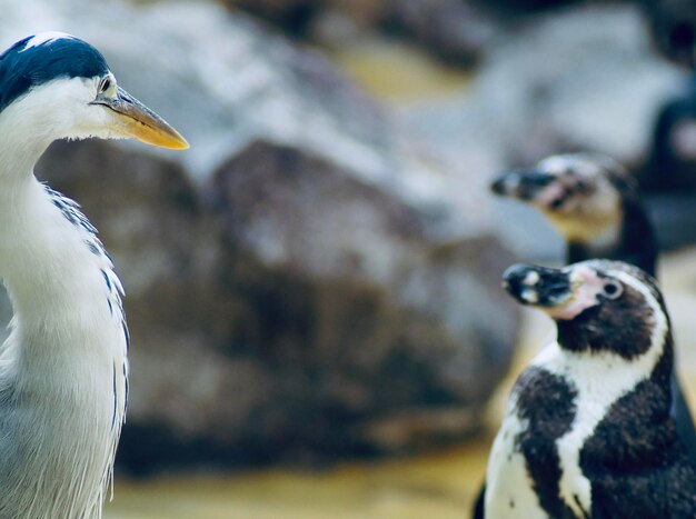
[[[186,149],[188,142],[152,110],[120,88],[103,56],[62,32],[18,41],[0,56],[0,118],[22,122],[36,138],[136,138]]]

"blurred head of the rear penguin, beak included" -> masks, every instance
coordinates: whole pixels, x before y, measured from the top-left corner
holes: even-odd
[[[622,198],[633,179],[608,157],[568,153],[548,157],[529,169],[514,170],[490,184],[494,193],[541,210],[569,242],[593,243],[618,232]]]

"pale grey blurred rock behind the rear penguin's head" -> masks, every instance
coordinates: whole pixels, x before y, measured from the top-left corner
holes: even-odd
[[[404,126],[477,176],[551,153],[604,152],[634,167],[648,154],[663,101],[682,72],[654,53],[636,6],[589,3],[536,16],[496,39],[470,88],[400,110]],[[496,203],[500,233],[521,257],[557,257],[558,240],[534,210]]]

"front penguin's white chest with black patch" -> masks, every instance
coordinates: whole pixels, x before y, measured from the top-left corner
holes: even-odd
[[[556,343],[543,350],[519,377],[494,441],[486,517],[587,517],[583,447],[655,361],[655,355],[633,362],[610,353],[576,357]]]

